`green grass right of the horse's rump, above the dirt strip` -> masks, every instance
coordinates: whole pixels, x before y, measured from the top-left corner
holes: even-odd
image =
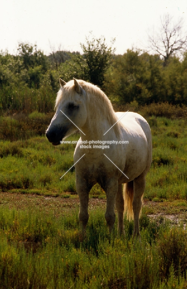
[[[149,200],[186,199],[186,120],[151,117],[148,122],[152,130],[153,161],[144,196]]]

